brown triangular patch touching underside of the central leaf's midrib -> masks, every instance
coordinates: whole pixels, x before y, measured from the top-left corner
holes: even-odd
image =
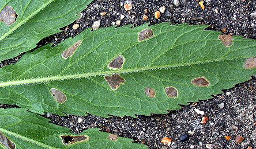
[[[113,90],[118,89],[121,83],[125,83],[125,79],[119,75],[105,76],[104,78]]]

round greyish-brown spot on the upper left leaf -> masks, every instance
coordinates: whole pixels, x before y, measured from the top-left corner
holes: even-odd
[[[11,6],[4,7],[0,13],[0,21],[5,22],[7,25],[12,25],[17,17],[16,11]]]

